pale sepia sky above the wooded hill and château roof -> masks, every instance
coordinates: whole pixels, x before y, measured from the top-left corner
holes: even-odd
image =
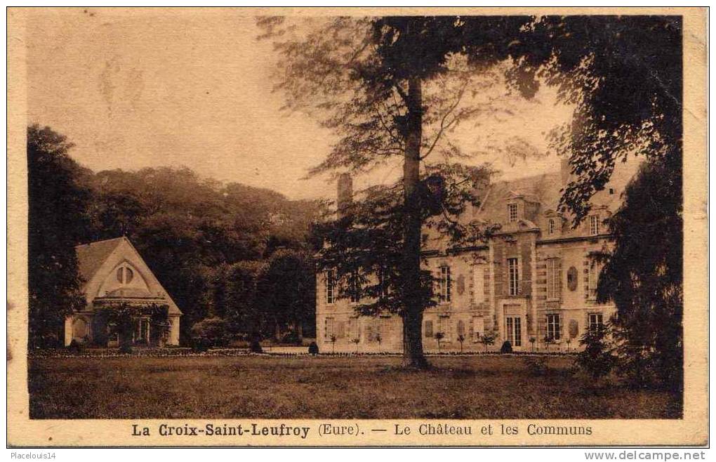
[[[224,9],[37,11],[26,30],[28,122],[67,135],[72,157],[95,171],[187,166],[223,182],[271,188],[292,199],[332,198],[325,176],[304,179],[335,138],[316,120],[281,110],[277,58],[251,16]],[[504,92],[504,88],[495,88]],[[458,142],[486,151],[504,179],[557,170],[555,155],[507,162],[495,145],[516,138],[548,153],[545,134],[571,109],[543,87],[500,120],[463,126]],[[356,178],[356,187],[385,181]]]

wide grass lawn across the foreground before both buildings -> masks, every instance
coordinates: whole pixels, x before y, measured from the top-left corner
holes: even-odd
[[[679,418],[668,393],[599,388],[568,357],[31,358],[32,418]]]

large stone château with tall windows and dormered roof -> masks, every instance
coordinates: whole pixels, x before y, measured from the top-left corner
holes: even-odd
[[[578,228],[556,211],[569,181],[564,163],[556,173],[479,191],[482,203],[466,211],[467,218],[500,223],[498,233],[470,249],[450,249],[438,236],[428,239],[427,267],[435,274],[440,301],[423,315],[425,351],[499,350],[505,341],[516,351],[578,350],[587,329],[615,312],[613,304],[596,303],[599,267],[592,252],[611,245],[604,220],[621,205],[621,192],[637,166],[615,171]],[[354,304],[336,297],[329,273],[316,281],[321,352],[401,352],[400,317],[357,316]],[[436,337],[438,332],[442,336]],[[495,337],[493,345],[483,343],[485,335]]]

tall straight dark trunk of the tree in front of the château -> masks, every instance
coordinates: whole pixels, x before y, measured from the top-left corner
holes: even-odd
[[[422,352],[422,297],[420,295],[420,141],[422,139],[422,89],[419,78],[408,82],[405,127],[405,230],[402,255],[403,365],[427,367]]]

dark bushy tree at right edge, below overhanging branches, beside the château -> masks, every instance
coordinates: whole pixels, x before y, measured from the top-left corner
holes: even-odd
[[[639,385],[683,387],[684,314],[681,191],[664,162],[642,166],[610,220],[614,250],[597,296],[614,299],[613,334],[619,372]]]

